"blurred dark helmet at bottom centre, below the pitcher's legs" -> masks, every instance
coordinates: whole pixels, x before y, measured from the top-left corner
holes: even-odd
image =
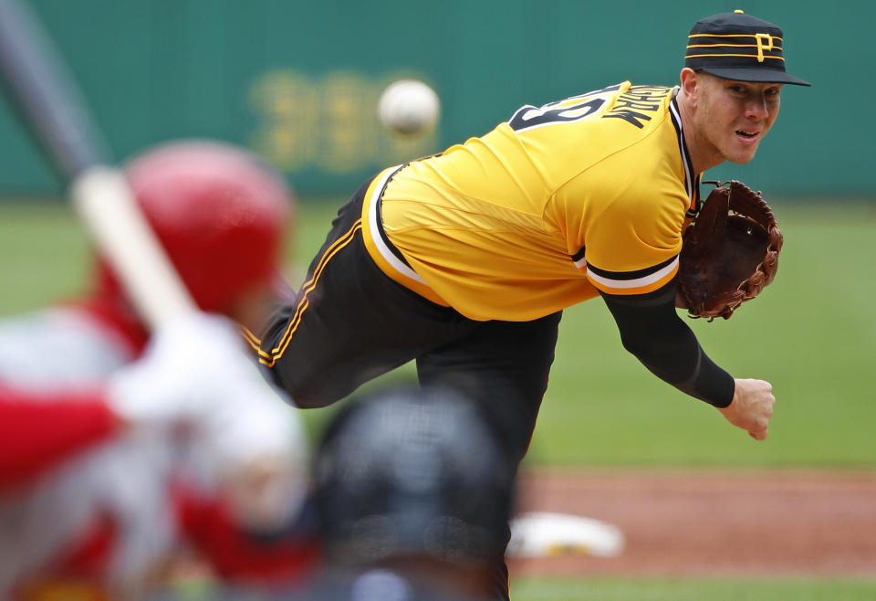
[[[399,388],[354,401],[314,465],[329,558],[367,564],[501,557],[514,465],[473,406],[449,390]]]

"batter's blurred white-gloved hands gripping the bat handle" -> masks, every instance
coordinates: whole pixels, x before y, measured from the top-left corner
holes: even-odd
[[[141,359],[112,375],[107,401],[131,427],[191,426],[190,452],[214,469],[246,528],[272,530],[299,509],[303,421],[245,352],[235,323],[195,311],[162,324]]]

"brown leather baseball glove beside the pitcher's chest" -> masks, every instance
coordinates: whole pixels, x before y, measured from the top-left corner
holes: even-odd
[[[716,187],[683,233],[677,283],[690,315],[730,319],[776,277],[783,240],[759,192]]]

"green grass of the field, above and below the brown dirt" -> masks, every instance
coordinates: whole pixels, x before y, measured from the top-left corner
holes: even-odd
[[[304,203],[290,264],[301,273],[334,203]],[[774,206],[786,245],[778,277],[729,321],[691,322],[732,374],[773,383],[770,437],[756,443],[713,408],[662,384],[620,347],[601,301],[566,311],[532,464],[642,468],[876,469],[876,202]],[[66,206],[0,204],[0,315],[82,290],[89,246]],[[296,279],[297,276],[290,276]],[[410,377],[410,369],[400,377]],[[380,385],[381,383],[378,383]],[[308,412],[314,433],[331,409]],[[518,601],[808,601],[876,598],[867,580],[522,579]]]

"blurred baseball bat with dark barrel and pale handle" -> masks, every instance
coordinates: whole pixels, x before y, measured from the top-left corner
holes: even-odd
[[[79,218],[151,327],[193,311],[65,61],[29,6],[0,0],[0,75],[14,106],[68,185]]]

